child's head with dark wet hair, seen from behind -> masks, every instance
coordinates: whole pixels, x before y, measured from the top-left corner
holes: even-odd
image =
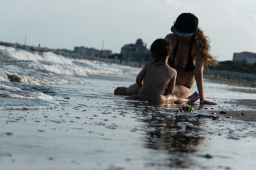
[[[170,43],[165,39],[156,39],[150,46],[150,53],[153,64],[164,64],[166,57],[172,54]]]

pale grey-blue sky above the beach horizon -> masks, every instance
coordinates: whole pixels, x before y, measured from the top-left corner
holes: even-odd
[[[232,60],[234,52],[256,53],[253,0],[0,0],[0,41],[49,48],[74,46],[120,53],[143,39],[147,47],[170,34],[175,19],[191,12],[208,36],[211,55]]]

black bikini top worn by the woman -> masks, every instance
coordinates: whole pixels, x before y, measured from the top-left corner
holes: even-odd
[[[190,42],[190,45],[189,45],[189,53],[188,53],[188,62],[187,62],[187,65],[186,65],[186,67],[184,67],[184,71],[187,71],[187,72],[189,72],[189,71],[194,71],[194,69],[195,69],[195,66],[194,66],[194,64],[193,64],[193,60],[192,60],[192,41]],[[174,48],[174,50],[173,50],[173,57],[171,57],[172,59],[170,59],[169,61],[168,61],[168,64],[171,66],[171,67],[173,67],[173,68],[175,68],[175,66],[174,66],[174,60],[175,60],[175,56],[176,56],[176,53],[177,53],[177,49],[178,49],[178,47],[179,47],[179,41],[177,42],[177,44],[175,45],[175,48]],[[183,69],[183,68],[182,68]]]

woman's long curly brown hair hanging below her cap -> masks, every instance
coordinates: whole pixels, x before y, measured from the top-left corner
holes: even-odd
[[[198,48],[198,50],[202,53],[205,67],[208,68],[209,65],[218,63],[217,60],[209,54],[209,50],[211,48],[209,38],[204,35],[204,32],[200,28],[196,29],[194,41],[196,48]]]

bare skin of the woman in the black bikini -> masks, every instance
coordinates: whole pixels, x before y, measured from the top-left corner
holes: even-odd
[[[190,89],[188,87],[192,87],[196,80],[196,86],[200,96],[200,104],[212,104],[216,105],[216,103],[207,101],[205,99],[204,94],[204,80],[203,80],[203,70],[204,70],[204,58],[202,57],[200,51],[196,49],[195,45],[192,45],[191,55],[193,64],[195,66],[195,71],[184,71],[184,67],[188,63],[188,53],[189,53],[189,45],[192,36],[182,37],[177,36],[175,34],[168,34],[165,39],[170,41],[171,45],[174,46],[179,41],[179,48],[177,49],[177,53],[174,60],[174,66],[177,71],[177,79],[175,84],[175,89],[173,94],[179,97],[188,96]],[[120,89],[119,87],[115,89],[114,94],[118,95],[128,95],[138,94],[140,87],[138,85],[133,84],[127,89]]]

